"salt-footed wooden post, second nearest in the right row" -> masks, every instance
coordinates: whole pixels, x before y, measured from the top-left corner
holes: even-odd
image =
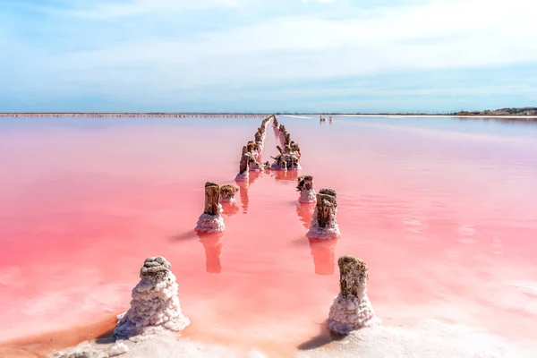
[[[337,200],[334,189],[321,189],[317,194],[317,205],[313,210],[309,238],[331,239],[341,235],[336,221]]]

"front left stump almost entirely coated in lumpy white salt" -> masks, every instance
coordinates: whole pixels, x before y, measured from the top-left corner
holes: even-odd
[[[145,336],[164,329],[181,331],[190,325],[181,311],[179,286],[170,268],[170,263],[161,256],[145,260],[140,270],[141,280],[132,289],[131,308],[118,316],[116,336]]]

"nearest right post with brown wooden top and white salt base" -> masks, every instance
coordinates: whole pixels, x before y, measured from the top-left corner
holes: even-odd
[[[339,335],[378,323],[367,295],[367,265],[363,260],[343,256],[339,266],[340,292],[330,307],[328,328]]]

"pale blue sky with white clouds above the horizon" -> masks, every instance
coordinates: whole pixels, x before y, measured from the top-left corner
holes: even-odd
[[[531,0],[0,0],[0,111],[537,106]]]

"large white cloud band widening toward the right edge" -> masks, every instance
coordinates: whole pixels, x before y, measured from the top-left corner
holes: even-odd
[[[48,66],[124,72],[147,66],[148,73],[188,87],[517,64],[537,61],[531,7],[526,0],[465,0],[388,9],[360,20],[286,17],[201,33],[195,41],[150,37],[55,55]]]

